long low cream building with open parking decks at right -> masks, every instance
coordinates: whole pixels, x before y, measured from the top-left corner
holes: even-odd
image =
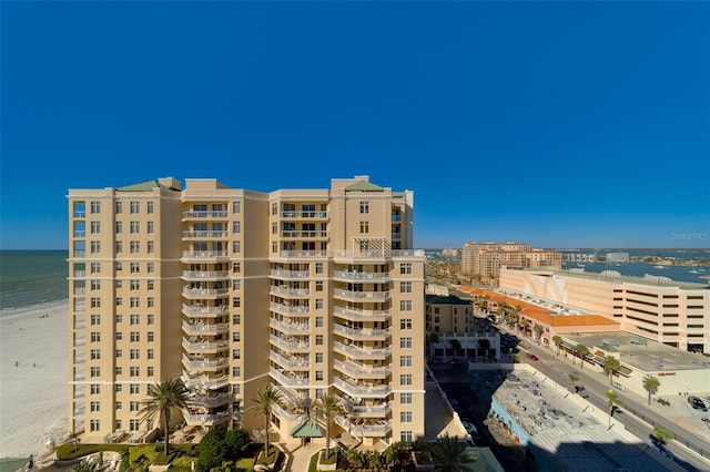
[[[667,346],[710,352],[708,285],[506,269],[500,287],[602,315],[618,321],[622,331]]]

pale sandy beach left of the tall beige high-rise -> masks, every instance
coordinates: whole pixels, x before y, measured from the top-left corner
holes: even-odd
[[[68,434],[68,300],[0,315],[0,458]]]

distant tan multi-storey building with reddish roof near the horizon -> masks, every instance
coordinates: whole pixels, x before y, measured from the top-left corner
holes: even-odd
[[[462,271],[481,283],[497,285],[500,268],[555,268],[562,266],[557,250],[531,249],[520,243],[466,243],[462,255]]]

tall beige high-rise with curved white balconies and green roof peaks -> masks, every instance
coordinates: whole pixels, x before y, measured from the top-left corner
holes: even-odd
[[[263,429],[251,399],[282,392],[284,441],[304,398],[335,393],[333,424],[424,437],[424,252],[413,193],[367,176],[272,193],[161,178],[69,191],[70,429],[141,441],[152,383],[181,377],[189,425]]]

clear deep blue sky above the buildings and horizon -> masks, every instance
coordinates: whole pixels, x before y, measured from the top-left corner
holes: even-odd
[[[65,248],[68,188],[362,174],[415,192],[417,247],[710,246],[708,2],[2,2],[1,21],[2,249]]]

